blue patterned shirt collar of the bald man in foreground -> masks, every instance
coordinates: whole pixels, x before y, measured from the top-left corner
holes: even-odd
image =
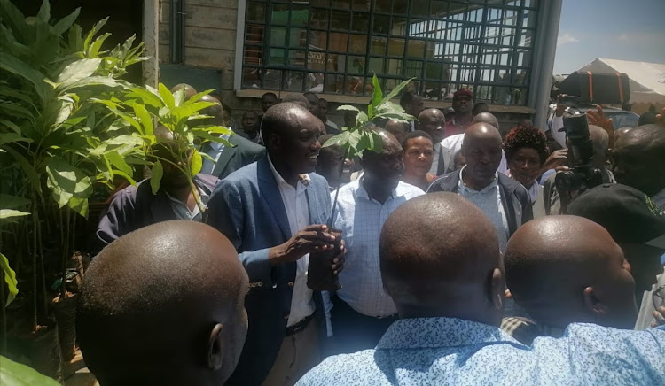
[[[470,344],[520,344],[496,326],[457,318],[396,320],[377,345],[381,349],[455,347]]]

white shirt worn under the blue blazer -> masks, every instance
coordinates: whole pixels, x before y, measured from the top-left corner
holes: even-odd
[[[305,193],[307,187],[301,181],[298,181],[296,188],[293,188],[275,170],[270,157],[268,157],[268,163],[270,164],[272,174],[275,176],[275,181],[278,183],[279,194],[282,196],[286,217],[289,220],[289,228],[291,228],[291,235],[295,235],[299,230],[309,225],[309,205]],[[315,309],[312,290],[307,286],[309,254],[298,259],[296,264],[293,297],[291,298],[291,313],[289,313],[289,320],[286,321],[286,327],[293,326],[295,323],[307,318],[314,313]]]

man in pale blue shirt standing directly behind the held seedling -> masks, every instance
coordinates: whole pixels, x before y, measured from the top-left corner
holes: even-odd
[[[402,146],[378,129],[383,150],[365,151],[363,176],[340,188],[333,228],[342,231],[347,259],[341,289],[332,296],[332,329],[337,353],[371,349],[396,319],[393,300],[383,290],[379,273],[379,236],[390,213],[407,200],[425,194],[400,181]],[[335,192],[332,192],[334,199]]]

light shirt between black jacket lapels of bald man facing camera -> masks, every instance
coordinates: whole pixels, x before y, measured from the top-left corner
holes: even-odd
[[[484,212],[489,220],[492,220],[494,228],[497,230],[499,250],[505,251],[505,244],[508,243],[508,218],[505,217],[504,205],[501,203],[501,189],[498,189],[498,174],[494,175],[494,181],[481,191],[473,190],[467,187],[462,179],[462,172],[466,166],[459,171],[458,193],[473,204],[478,206]]]

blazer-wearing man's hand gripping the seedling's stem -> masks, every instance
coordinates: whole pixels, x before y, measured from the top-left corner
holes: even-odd
[[[270,248],[268,261],[275,266],[297,261],[308,253],[334,248],[335,237],[328,233],[325,225],[309,225],[293,235],[286,243]]]

